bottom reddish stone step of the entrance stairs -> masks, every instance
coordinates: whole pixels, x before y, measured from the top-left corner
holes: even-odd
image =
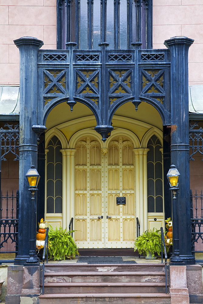
[[[170,304],[170,295],[165,293],[48,294],[40,295],[39,299],[39,304]]]

